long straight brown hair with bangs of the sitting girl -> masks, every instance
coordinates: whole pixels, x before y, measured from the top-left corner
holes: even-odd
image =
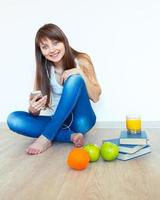
[[[57,40],[63,42],[65,47],[65,54],[63,56],[63,66],[64,70],[72,69],[76,67],[75,58],[83,54],[70,47],[67,37],[64,32],[55,24],[45,24],[42,26],[36,34],[35,37],[35,57],[36,57],[36,77],[35,77],[35,88],[36,90],[41,90],[43,95],[47,95],[46,107],[49,107],[50,103],[50,79],[51,76],[51,66],[53,63],[42,55],[40,49],[40,43],[45,39]],[[46,69],[47,68],[47,69]],[[47,74],[48,72],[48,74]]]

